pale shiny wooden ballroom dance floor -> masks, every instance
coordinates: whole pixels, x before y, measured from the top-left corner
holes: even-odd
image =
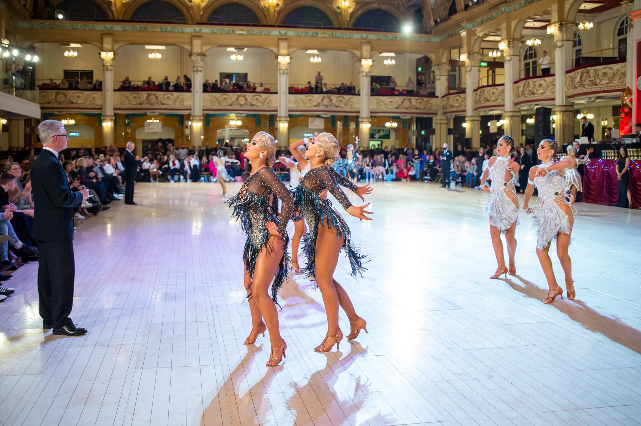
[[[522,210],[518,275],[488,279],[486,198],[374,184],[374,220],[345,213],[365,278],[344,256],[335,274],[369,334],[313,352],[320,292],[287,283],[287,358],[266,368],[269,335],[243,345],[244,236],[221,187],[138,184],[137,206],[112,203],[76,232],[72,318],[88,335],[43,332],[37,264],[3,283],[16,292],[0,304],[0,424],[640,425],[641,212],[578,203],[577,297],[546,305]]]

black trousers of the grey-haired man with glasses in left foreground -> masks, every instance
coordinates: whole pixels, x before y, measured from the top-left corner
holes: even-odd
[[[54,328],[71,325],[74,301],[74,243],[38,241],[40,317]]]

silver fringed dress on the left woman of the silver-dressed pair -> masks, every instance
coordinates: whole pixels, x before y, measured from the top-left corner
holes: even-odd
[[[519,207],[510,199],[517,198],[517,191],[514,188],[513,179],[505,182],[506,166],[510,157],[496,157],[494,164],[490,167],[490,198],[485,202],[485,211],[490,215],[490,225],[495,226],[501,232],[506,232],[513,223],[519,224]]]

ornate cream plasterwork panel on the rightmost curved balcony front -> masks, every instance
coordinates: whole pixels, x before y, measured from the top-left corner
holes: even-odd
[[[617,93],[626,88],[626,63],[579,68],[565,77],[565,93],[568,97]]]

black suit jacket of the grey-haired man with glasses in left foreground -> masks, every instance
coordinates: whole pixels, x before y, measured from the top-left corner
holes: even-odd
[[[49,150],[42,150],[31,168],[31,191],[35,200],[33,238],[38,241],[74,241],[74,207],[82,194],[69,188],[62,164]]]

